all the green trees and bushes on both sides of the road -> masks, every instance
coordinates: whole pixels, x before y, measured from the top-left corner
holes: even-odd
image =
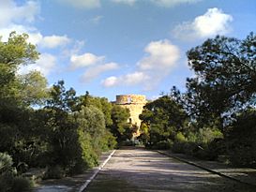
[[[76,96],[64,81],[49,88],[38,71],[19,75],[39,55],[27,38],[0,40],[0,192],[28,189],[30,168],[60,178],[96,166],[101,152],[132,137],[128,110]],[[185,93],[173,87],[144,107],[139,140],[256,168],[256,36],[208,39],[188,51],[188,65],[195,75]]]

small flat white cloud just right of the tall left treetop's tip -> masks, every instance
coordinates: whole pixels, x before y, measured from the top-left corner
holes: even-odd
[[[44,48],[56,48],[59,46],[67,45],[70,42],[70,38],[67,36],[48,36],[42,37],[39,44]]]

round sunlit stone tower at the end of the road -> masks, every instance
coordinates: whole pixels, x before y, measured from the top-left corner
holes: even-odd
[[[120,95],[116,96],[116,105],[128,108],[130,117],[128,122],[131,125],[140,127],[141,120],[139,115],[143,112],[143,106],[146,104],[145,96],[142,95]]]

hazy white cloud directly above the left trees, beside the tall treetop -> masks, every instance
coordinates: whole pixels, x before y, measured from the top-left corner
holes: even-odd
[[[19,70],[20,74],[26,74],[31,70],[38,70],[44,76],[49,75],[56,66],[56,57],[49,53],[42,53],[35,64],[22,66]]]

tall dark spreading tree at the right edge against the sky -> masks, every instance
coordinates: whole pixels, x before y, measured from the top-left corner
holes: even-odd
[[[188,79],[190,112],[201,122],[223,128],[223,120],[255,105],[256,36],[215,37],[188,51],[196,77]]]

